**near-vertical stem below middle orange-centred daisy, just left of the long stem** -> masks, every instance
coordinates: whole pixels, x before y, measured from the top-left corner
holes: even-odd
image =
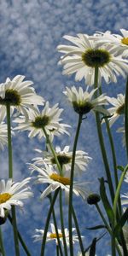
[[[62,239],[63,239],[63,245],[64,245],[64,252],[65,252],[65,256],[67,256],[67,241],[66,241],[66,236],[65,236],[66,234],[64,230],[61,190],[60,190],[60,218],[61,218],[61,233],[62,233]]]

